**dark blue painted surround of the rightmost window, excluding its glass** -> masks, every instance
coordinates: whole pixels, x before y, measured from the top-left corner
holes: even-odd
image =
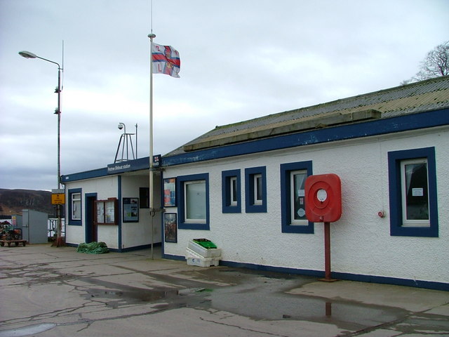
[[[427,158],[430,227],[403,227],[401,161]],[[388,152],[390,234],[405,237],[438,237],[435,147]]]

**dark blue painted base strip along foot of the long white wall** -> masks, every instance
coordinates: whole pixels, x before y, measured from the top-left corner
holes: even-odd
[[[185,260],[184,256],[176,255],[163,255],[163,258],[170,260]],[[220,260],[220,265],[226,267],[234,268],[246,268],[251,270],[262,270],[265,272],[283,272],[286,274],[304,275],[311,277],[324,277],[324,272],[321,270],[308,270],[308,269],[296,269],[288,267],[274,267],[272,265],[255,265],[253,263],[240,263],[233,261]],[[377,283],[377,284],[392,284],[395,286],[413,286],[415,288],[423,289],[433,289],[441,291],[449,291],[449,283],[443,282],[431,282],[431,281],[421,281],[415,279],[399,279],[396,277],[384,277],[375,275],[360,275],[360,274],[350,274],[348,272],[331,272],[331,277],[334,279],[344,279],[347,281],[356,282],[367,282],[367,283]]]

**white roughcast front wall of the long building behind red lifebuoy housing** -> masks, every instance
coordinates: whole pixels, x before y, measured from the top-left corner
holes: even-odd
[[[393,237],[387,152],[421,147],[436,149],[439,237]],[[448,282],[448,154],[446,127],[168,167],[165,178],[209,173],[210,230],[178,230],[178,243],[165,243],[165,253],[184,256],[189,239],[206,237],[222,248],[223,260],[323,270],[322,223],[314,234],[281,233],[280,164],[311,160],[314,174],[336,173],[342,180],[343,214],[331,224],[333,271]],[[244,169],[255,166],[267,167],[267,213],[245,213]],[[221,173],[231,169],[241,169],[237,214],[222,213]]]

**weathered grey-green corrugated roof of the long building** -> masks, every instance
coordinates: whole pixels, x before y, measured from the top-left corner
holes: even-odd
[[[446,107],[449,107],[449,77],[437,77],[235,124],[217,126],[166,156],[285,133],[297,133],[311,128],[360,123],[366,119],[384,119]]]

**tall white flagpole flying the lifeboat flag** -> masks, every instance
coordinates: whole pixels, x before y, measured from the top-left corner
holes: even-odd
[[[155,34],[148,34],[149,37],[149,215],[152,219],[152,260],[153,253],[153,218],[154,218],[154,183],[153,183],[153,39]]]

